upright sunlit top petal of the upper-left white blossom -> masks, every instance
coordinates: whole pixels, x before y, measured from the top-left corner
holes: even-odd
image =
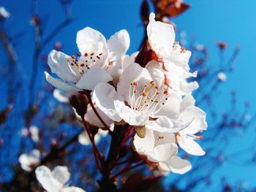
[[[99,31],[86,27],[78,31],[76,42],[80,53],[83,55],[83,53],[85,53],[86,46],[97,42],[106,44],[106,39]]]

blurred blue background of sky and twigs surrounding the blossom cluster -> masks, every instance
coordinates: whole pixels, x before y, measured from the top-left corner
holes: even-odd
[[[58,121],[56,128],[49,128],[47,124],[47,119],[56,114],[59,106],[68,114],[72,112],[68,104],[60,104],[53,98],[53,88],[45,82],[43,72],[49,70],[46,58],[50,50],[59,48],[68,55],[77,53],[76,33],[90,26],[107,38],[118,30],[127,29],[131,39],[128,53],[132,54],[140,47],[144,34],[140,18],[142,1],[35,2],[0,0],[0,6],[10,12],[10,17],[0,23],[0,186],[3,189],[16,174],[23,172],[18,168],[21,153],[34,148],[47,152],[54,139],[59,141],[61,134],[64,134],[64,139],[60,140],[64,142],[79,130],[78,125],[71,125],[67,117],[64,118],[66,121]],[[177,40],[187,49],[194,50],[190,65],[198,70],[200,83],[195,98],[208,114],[208,131],[200,141],[206,155],[188,157],[192,161],[192,171],[165,177],[161,190],[254,191],[256,1],[187,0],[186,3],[191,7],[170,21],[176,25]],[[149,6],[153,11],[152,4]],[[40,28],[37,28],[35,15],[40,18]],[[58,28],[65,21],[67,23]],[[42,39],[37,39],[37,30]],[[13,62],[3,34],[15,50]],[[39,50],[38,43],[41,45]],[[219,80],[219,72],[225,73],[227,79]],[[31,106],[36,112],[28,118]],[[20,134],[24,127],[33,125],[39,128],[43,142],[34,142]],[[72,155],[64,161],[75,164],[84,158],[83,153],[89,153],[89,147],[75,144],[69,151]],[[84,172],[94,175],[93,170],[87,169],[88,164],[90,161],[83,162],[81,167]],[[72,163],[70,166],[76,172],[77,167]],[[84,181],[86,178],[82,181],[80,174],[80,171],[74,173],[72,182],[93,191],[95,181],[89,183]],[[87,180],[95,178],[97,174]]]

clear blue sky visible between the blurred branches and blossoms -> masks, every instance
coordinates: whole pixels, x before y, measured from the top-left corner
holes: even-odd
[[[173,21],[178,28],[187,32],[188,37],[196,37],[197,42],[206,45],[210,53],[212,65],[218,64],[217,41],[227,42],[228,49],[226,56],[232,54],[236,45],[241,46],[241,53],[236,60],[236,70],[227,77],[227,81],[222,86],[222,96],[217,101],[219,112],[225,110],[230,90],[235,89],[238,93],[238,105],[241,107],[244,101],[248,100],[255,108],[255,82],[256,82],[256,27],[253,21],[255,17],[256,1],[233,1],[233,0],[187,0],[191,4],[191,9],[175,18]],[[31,57],[34,50],[33,39],[29,39],[33,34],[33,28],[29,22],[31,18],[30,1],[4,1],[3,5],[10,10],[12,17],[6,23],[10,34],[15,35],[20,31],[25,31],[24,37],[18,39],[17,49],[19,50],[20,63],[24,69],[31,74]],[[45,33],[56,23],[64,19],[57,1],[39,0],[39,14],[45,18]],[[63,51],[67,54],[77,53],[75,44],[78,30],[90,26],[102,32],[105,37],[110,37],[116,31],[126,28],[131,38],[129,53],[138,49],[143,36],[143,27],[140,22],[139,13],[140,1],[138,0],[75,0],[72,4],[74,20],[71,25],[59,34],[55,41],[63,43]],[[23,47],[26,45],[26,47]],[[53,45],[45,47],[47,54],[53,49]],[[226,57],[228,58],[228,57]],[[41,71],[40,71],[41,72]],[[43,81],[43,73],[40,73],[38,82]],[[4,96],[1,96],[4,97]],[[3,98],[1,98],[3,99]],[[250,133],[249,133],[250,135]],[[248,135],[248,138],[250,137]],[[234,139],[231,148],[243,148],[247,142],[242,139]],[[252,185],[255,176],[255,166],[244,168],[239,166],[226,165],[214,178],[219,180],[223,174],[227,174],[231,181],[245,179]],[[239,174],[238,174],[239,172]]]

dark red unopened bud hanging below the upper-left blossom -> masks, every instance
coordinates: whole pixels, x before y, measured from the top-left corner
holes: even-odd
[[[89,100],[86,95],[80,93],[72,95],[69,98],[69,102],[72,105],[72,107],[75,108],[75,111],[78,113],[78,115],[83,117],[86,114],[87,105],[89,103]]]

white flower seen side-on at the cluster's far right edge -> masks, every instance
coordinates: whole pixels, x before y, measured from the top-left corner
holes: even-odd
[[[204,155],[203,149],[195,142],[195,139],[198,140],[201,137],[195,134],[206,130],[206,113],[195,107],[195,99],[191,95],[186,95],[181,101],[178,120],[188,124],[186,128],[176,133],[178,145],[191,155]]]

